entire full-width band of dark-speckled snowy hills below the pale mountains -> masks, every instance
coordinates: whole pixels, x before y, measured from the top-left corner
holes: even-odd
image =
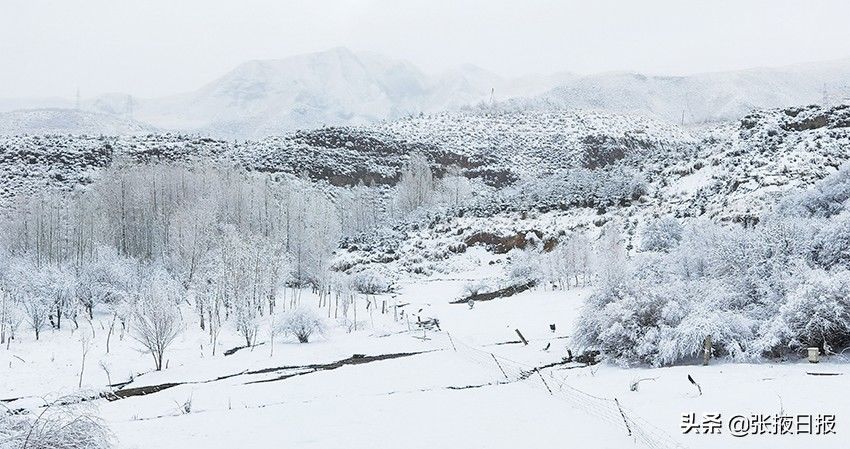
[[[206,160],[338,187],[392,186],[410,155],[422,153],[437,176],[457,166],[468,178],[514,192],[499,208],[599,205],[580,198],[590,195],[587,183],[607,189],[597,198],[609,195],[608,177],[621,179],[625,170],[628,185],[646,192],[640,207],[655,214],[748,221],[850,157],[848,109],[763,110],[704,130],[587,111],[467,111],[241,143],[173,134],[10,136],[0,141],[0,170],[7,198],[45,185],[74,188],[123,158]],[[491,214],[493,207],[482,210]]]

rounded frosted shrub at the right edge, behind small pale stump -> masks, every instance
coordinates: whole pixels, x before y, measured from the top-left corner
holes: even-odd
[[[850,343],[850,272],[810,270],[781,307],[791,346],[841,348]]]

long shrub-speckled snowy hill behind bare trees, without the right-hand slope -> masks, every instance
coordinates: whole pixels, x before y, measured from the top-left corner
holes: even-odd
[[[5,187],[10,196],[18,189],[10,186],[18,182],[24,190],[45,183],[73,188],[85,183],[81,179],[90,170],[124,157],[211,159],[249,170],[306,175],[334,186],[394,185],[410,154],[422,153],[438,175],[454,165],[470,178],[504,187],[563,169],[593,169],[621,160],[631,165],[662,155],[678,158],[693,143],[687,131],[636,116],[458,112],[239,143],[175,134],[7,136],[0,138],[0,169],[9,173]]]

